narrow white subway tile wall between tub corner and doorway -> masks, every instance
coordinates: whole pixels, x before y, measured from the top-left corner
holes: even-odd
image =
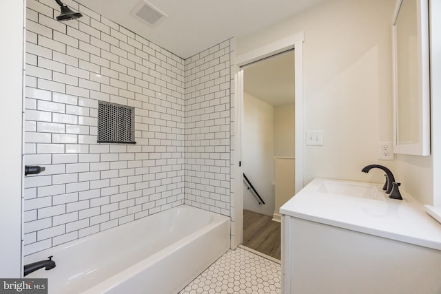
[[[230,40],[185,61],[185,203],[230,216]]]

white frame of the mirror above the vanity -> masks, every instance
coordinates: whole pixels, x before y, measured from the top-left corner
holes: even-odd
[[[402,144],[398,142],[398,54],[396,24],[402,2],[398,0],[392,19],[393,48],[393,153],[419,156],[430,155],[430,67],[429,67],[429,1],[416,0],[417,46],[416,56],[418,71],[418,116],[420,119],[418,143]]]

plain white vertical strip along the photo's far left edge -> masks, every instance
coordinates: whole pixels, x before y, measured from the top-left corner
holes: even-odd
[[[1,134],[0,154],[0,277],[19,278],[21,266],[21,196],[23,157],[23,81],[25,41],[25,0],[2,1],[5,11],[0,20],[0,32],[8,36],[8,45],[3,46],[0,61],[2,106],[0,109]]]

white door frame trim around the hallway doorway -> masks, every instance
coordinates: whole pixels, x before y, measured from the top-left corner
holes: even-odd
[[[295,70],[295,122],[296,122],[296,193],[303,187],[304,178],[304,97],[303,97],[303,41],[305,39],[304,32],[298,32],[280,39],[273,43],[268,43],[260,48],[256,48],[244,54],[236,56],[234,63],[234,80],[236,95],[233,107],[232,134],[235,140],[232,140],[232,191],[234,198],[232,201],[232,248],[236,248],[238,244],[243,242],[243,169],[240,166],[242,160],[242,120],[243,120],[243,70],[241,67],[260,59],[279,54],[281,52],[294,49],[294,70]]]

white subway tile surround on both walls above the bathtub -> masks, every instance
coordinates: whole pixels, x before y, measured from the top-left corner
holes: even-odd
[[[199,56],[206,72],[189,74],[202,70],[196,59],[184,61],[74,1],[68,5],[83,17],[61,23],[54,1],[27,1],[25,165],[45,171],[25,177],[24,255],[185,197],[229,215],[228,43]],[[136,145],[96,143],[99,100],[135,107]]]

